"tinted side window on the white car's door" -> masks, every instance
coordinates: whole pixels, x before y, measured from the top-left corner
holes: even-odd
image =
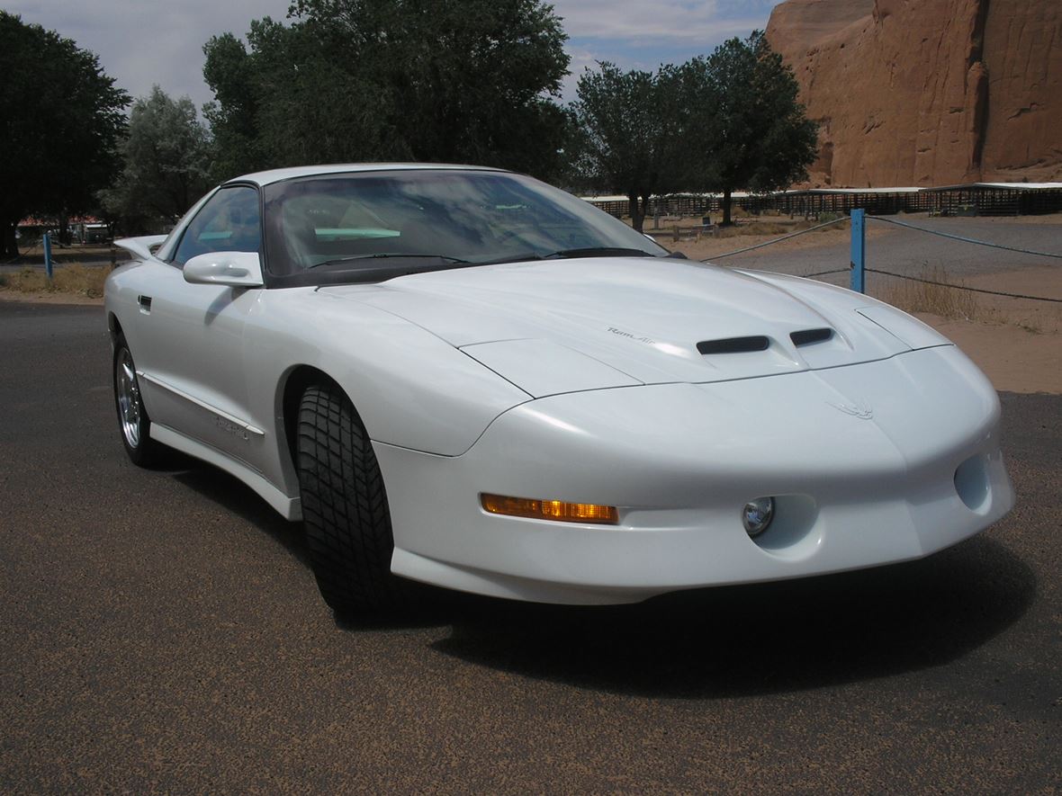
[[[222,188],[185,229],[173,261],[184,265],[208,252],[260,252],[261,241],[258,191],[247,186]]]

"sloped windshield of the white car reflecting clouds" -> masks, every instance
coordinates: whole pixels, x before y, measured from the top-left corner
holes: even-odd
[[[416,169],[329,174],[264,189],[267,269],[280,284],[561,257],[664,257],[593,205],[531,177]]]

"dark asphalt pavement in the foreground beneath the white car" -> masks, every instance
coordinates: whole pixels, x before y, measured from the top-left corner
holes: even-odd
[[[0,304],[0,791],[1062,790],[1062,397],[1017,508],[926,560],[338,626],[297,526],[139,470],[99,308]]]

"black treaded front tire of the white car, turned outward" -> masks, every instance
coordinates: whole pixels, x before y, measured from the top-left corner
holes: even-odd
[[[303,394],[296,466],[310,560],[325,602],[355,618],[409,607],[412,584],[391,574],[394,537],[376,453],[354,404],[335,384]]]

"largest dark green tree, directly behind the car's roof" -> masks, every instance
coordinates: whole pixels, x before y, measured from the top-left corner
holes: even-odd
[[[210,39],[219,162],[559,168],[568,57],[539,0],[297,0],[292,22]],[[250,144],[250,145],[249,145]]]

